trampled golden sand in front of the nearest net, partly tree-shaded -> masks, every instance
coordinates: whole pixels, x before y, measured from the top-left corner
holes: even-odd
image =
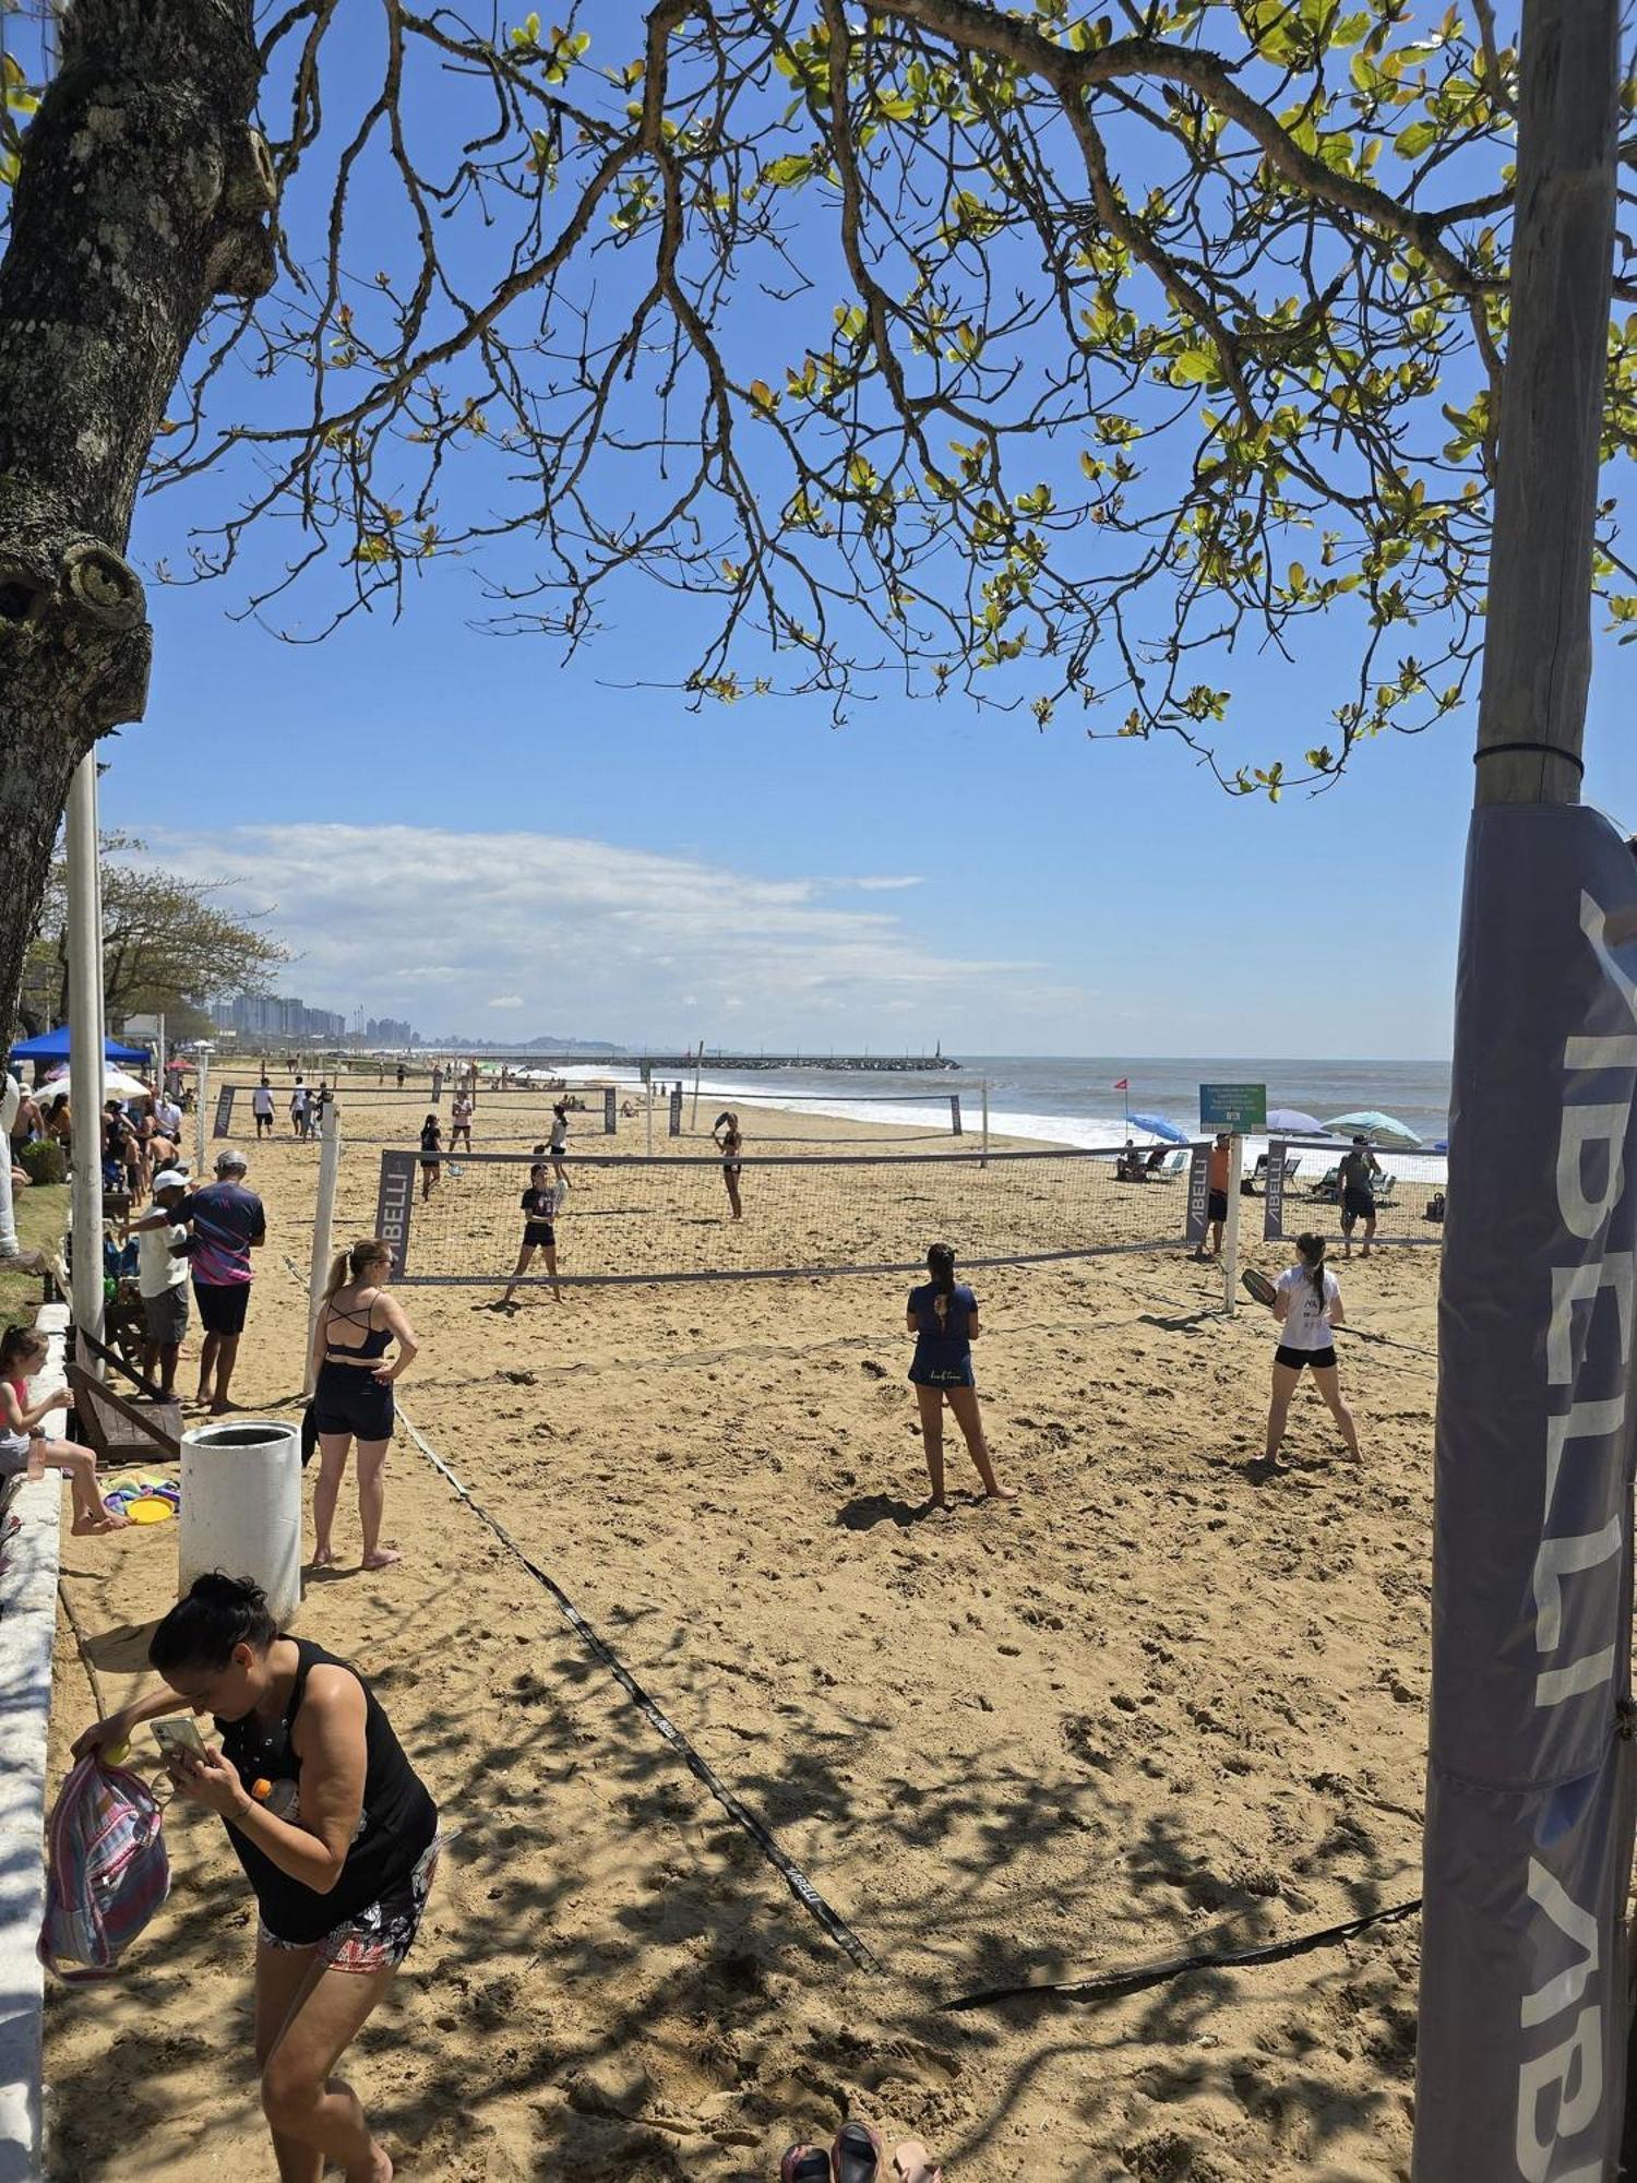
[[[295,1412],[284,1253],[306,1268],[314,1172],[288,1140],[255,1157],[271,1242],[236,1393],[268,1415]],[[354,1155],[345,1225],[371,1207]],[[1414,1921],[1111,2002],[936,2006],[1419,1890],[1436,1253],[1338,1271],[1379,1336],[1342,1351],[1366,1460],[1303,1393],[1275,1478],[1268,1323],[1224,1323],[1181,1249],[973,1277],[1021,1495],[965,1498],[952,1436],[949,1517],[921,1515],[901,1281],[535,1295],[511,1321],[406,1290],[402,1408],[884,1969],[825,1936],[399,1430],[406,1563],[356,1570],[343,1495],[343,1570],[299,1622],[375,1677],[458,1827],[347,2069],[399,2172],[729,2183],[858,2113],[928,2137],[952,2183],[1408,2174]],[[113,1705],[175,1532],[65,1541],[65,1589]],[[92,1711],[61,1639],[57,1770]],[[177,1810],[168,1838],[129,1971],[52,1993],[52,2176],[271,2174],[249,1897],[214,1818]]]

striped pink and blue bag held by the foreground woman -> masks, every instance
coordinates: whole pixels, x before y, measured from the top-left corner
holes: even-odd
[[[83,1984],[111,1978],[170,1893],[159,1805],[142,1775],[85,1757],[46,1823],[39,1960]]]

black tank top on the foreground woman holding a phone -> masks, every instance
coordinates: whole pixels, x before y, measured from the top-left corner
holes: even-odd
[[[273,1794],[266,1799],[266,1808],[279,1818],[299,1821],[301,1759],[290,1746],[290,1729],[308,1690],[308,1670],[316,1666],[345,1668],[365,1692],[365,1808],[358,1814],[358,1832],[351,1838],[340,1880],[330,1895],[319,1895],[314,1888],[301,1886],[299,1880],[290,1880],[238,1827],[227,1829],[227,1840],[255,1888],[266,1930],[279,1941],[308,1947],[312,1941],[323,1941],[336,1925],[345,1925],[367,1904],[380,1901],[382,1895],[408,1882],[437,1834],[439,1812],[421,1777],[404,1757],[404,1746],[393,1735],[393,1725],[362,1674],[349,1661],[312,1644],[310,1637],[292,1642],[299,1663],[284,1718],[264,1729],[253,1714],[247,1714],[244,1720],[218,1720],[216,1733],[247,1792],[253,1792],[255,1781],[271,1781]]]

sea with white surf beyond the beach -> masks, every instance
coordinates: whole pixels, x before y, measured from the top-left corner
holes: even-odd
[[[886,1076],[875,1070],[755,1070],[742,1076],[712,1070],[705,1057],[703,1100],[740,1100],[757,1109],[797,1107],[849,1120],[939,1126],[949,1118],[949,1094],[960,1094],[963,1122],[978,1129],[982,1085],[989,1083],[989,1126],[1006,1137],[1043,1144],[1102,1146],[1126,1137],[1131,1113],[1161,1113],[1198,1133],[1203,1083],[1266,1083],[1270,1107],[1297,1107],[1327,1122],[1338,1113],[1377,1107],[1406,1122],[1423,1144],[1449,1131],[1447,1061],[1299,1061],[1244,1054],[1139,1059],[1128,1054],[960,1054],[960,1067],[930,1076]],[[611,1063],[570,1067],[570,1076],[635,1081],[637,1072]],[[1131,1092],[1115,1092],[1120,1076]],[[692,1076],[688,1078],[692,1094]],[[749,1116],[746,1116],[749,1122]],[[1259,1148],[1259,1140],[1248,1140]]]

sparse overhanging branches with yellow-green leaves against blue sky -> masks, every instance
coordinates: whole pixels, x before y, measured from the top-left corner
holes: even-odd
[[[111,9],[79,0],[70,57]],[[262,7],[277,264],[225,282],[159,428],[148,487],[194,524],[159,574],[234,570],[308,635],[465,557],[500,627],[570,646],[642,574],[692,603],[698,696],[960,690],[1181,736],[1248,792],[1334,782],[1482,644],[1499,15]],[[1615,297],[1624,456],[1626,240]],[[1637,627],[1613,506],[1598,576]],[[1321,616],[1340,681],[1229,725]]]

